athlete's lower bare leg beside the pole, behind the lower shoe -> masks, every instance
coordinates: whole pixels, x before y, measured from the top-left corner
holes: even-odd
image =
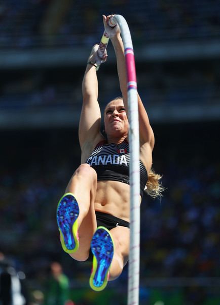
[[[109,281],[117,279],[128,262],[130,229],[126,227],[116,227],[110,230],[114,240],[114,256],[110,267]]]

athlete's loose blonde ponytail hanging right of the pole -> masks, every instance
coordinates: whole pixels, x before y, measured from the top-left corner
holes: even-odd
[[[161,175],[156,174],[153,168],[148,172],[148,181],[146,182],[146,193],[152,198],[161,198],[164,187],[159,181],[162,178]]]

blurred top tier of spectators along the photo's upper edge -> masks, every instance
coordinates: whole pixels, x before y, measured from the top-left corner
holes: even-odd
[[[135,42],[219,37],[220,4],[193,1],[8,0],[0,5],[1,47],[90,44],[102,32],[101,15],[121,14]],[[82,21],[83,20],[83,21]],[[101,26],[101,28],[100,28]]]

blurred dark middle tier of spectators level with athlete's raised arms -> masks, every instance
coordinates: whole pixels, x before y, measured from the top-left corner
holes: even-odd
[[[86,61],[86,58],[85,58]],[[106,104],[117,91],[112,65],[98,71],[99,101]],[[137,65],[138,91],[148,106],[211,105],[220,98],[219,60],[209,62],[143,63]],[[81,107],[84,69],[6,71],[0,85],[0,109],[38,110]]]

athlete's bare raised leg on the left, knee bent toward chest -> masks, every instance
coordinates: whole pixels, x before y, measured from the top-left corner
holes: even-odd
[[[81,164],[72,175],[65,193],[72,193],[79,204],[78,234],[80,247],[70,256],[85,261],[89,256],[90,242],[96,230],[94,200],[97,188],[97,174],[88,164]]]

